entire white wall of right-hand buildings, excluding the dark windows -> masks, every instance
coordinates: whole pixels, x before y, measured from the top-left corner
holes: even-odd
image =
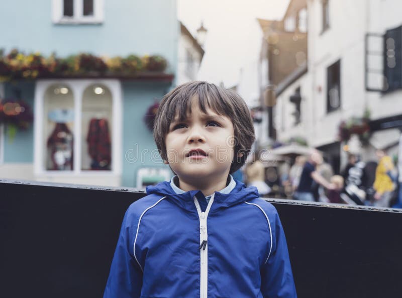
[[[338,126],[351,116],[361,117],[367,107],[371,119],[402,114],[402,90],[390,93],[365,90],[365,35],[384,34],[402,24],[399,0],[330,0],[330,28],[322,31],[321,0],[308,2],[308,73],[277,98],[279,140],[303,136],[318,147],[337,141]],[[327,68],[341,60],[341,107],[327,113]],[[289,96],[300,86],[302,124],[293,127],[294,105]],[[284,118],[284,119],[283,119]]]

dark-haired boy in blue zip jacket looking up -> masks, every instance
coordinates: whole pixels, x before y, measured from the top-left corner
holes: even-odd
[[[176,175],[127,210],[104,298],[296,297],[276,210],[230,175],[254,141],[242,98],[180,85],[164,96],[154,137]]]

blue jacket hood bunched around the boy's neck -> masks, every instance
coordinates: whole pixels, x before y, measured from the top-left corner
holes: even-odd
[[[236,186],[230,193],[215,191],[214,204],[211,211],[221,207],[230,207],[259,197],[258,190],[255,186],[246,187],[243,182],[238,180],[235,180],[235,182]],[[200,190],[189,190],[177,194],[170,186],[170,181],[163,181],[154,186],[147,186],[146,190],[147,194],[167,196],[181,208],[190,211],[194,210],[194,196],[197,198],[204,198],[205,200],[205,196]]]

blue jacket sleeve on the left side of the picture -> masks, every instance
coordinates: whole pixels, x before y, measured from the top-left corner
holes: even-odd
[[[130,210],[123,219],[104,298],[139,298],[141,295],[143,274],[134,257],[138,220]]]

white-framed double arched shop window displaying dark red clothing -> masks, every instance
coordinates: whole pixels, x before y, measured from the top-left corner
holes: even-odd
[[[36,174],[120,174],[121,85],[118,80],[38,80]]]

